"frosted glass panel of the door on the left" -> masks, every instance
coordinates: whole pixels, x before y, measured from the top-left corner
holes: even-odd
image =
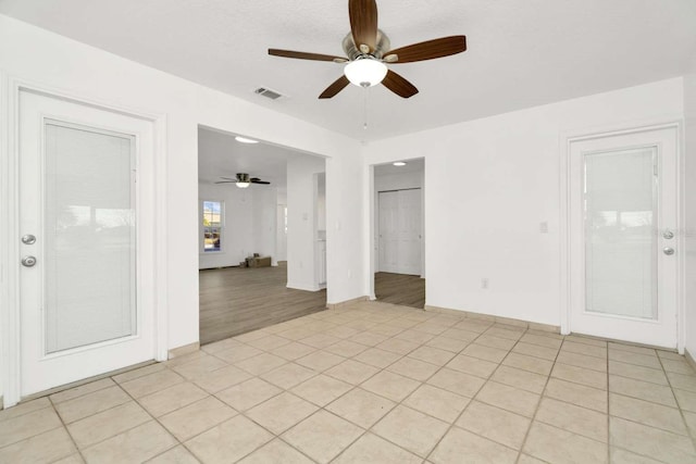
[[[45,352],[136,334],[130,136],[48,122]]]

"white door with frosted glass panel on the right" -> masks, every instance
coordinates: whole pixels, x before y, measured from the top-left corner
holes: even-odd
[[[676,347],[676,130],[572,141],[570,329]]]

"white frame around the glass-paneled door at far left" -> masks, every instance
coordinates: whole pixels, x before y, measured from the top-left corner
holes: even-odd
[[[154,321],[156,361],[167,359],[167,240],[166,240],[166,115],[125,108],[113,102],[95,100],[14,76],[0,74],[0,383],[2,406],[9,407],[21,401],[21,304],[20,268],[20,216],[18,216],[18,168],[20,168],[20,92],[33,92],[71,103],[115,112],[152,123],[153,174],[148,179],[153,185],[151,214],[154,240],[151,266],[154,279],[152,289]]]

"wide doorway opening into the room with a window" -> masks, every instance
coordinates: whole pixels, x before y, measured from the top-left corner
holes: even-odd
[[[201,344],[326,309],[325,159],[236,136],[199,127]]]

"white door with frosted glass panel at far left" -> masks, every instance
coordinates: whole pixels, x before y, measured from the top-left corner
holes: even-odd
[[[152,123],[20,93],[21,394],[154,358]]]

